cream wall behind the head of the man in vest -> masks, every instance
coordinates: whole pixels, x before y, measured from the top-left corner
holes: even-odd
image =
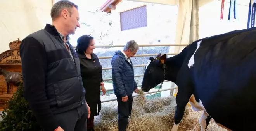
[[[4,0],[0,4],[0,53],[9,43],[51,24],[52,0]]]

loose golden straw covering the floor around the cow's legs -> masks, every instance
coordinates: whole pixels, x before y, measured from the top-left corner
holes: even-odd
[[[133,98],[133,110],[126,131],[170,131],[175,114],[175,98],[173,96],[145,99],[143,96]],[[202,111],[193,111],[187,106],[178,131],[200,131],[199,118]],[[95,131],[118,131],[117,109],[102,106],[95,125]],[[207,131],[226,131],[217,126],[213,119]]]

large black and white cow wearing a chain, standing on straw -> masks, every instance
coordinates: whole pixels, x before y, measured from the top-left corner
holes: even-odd
[[[150,57],[142,90],[164,79],[178,86],[171,131],[177,131],[188,102],[195,111],[204,110],[201,131],[211,118],[228,130],[256,130],[256,28],[197,40],[167,59]]]

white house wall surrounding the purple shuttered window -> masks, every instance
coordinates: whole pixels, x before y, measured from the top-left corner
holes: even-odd
[[[121,31],[120,12],[143,5],[147,5],[147,27]],[[178,8],[171,5],[121,1],[116,10],[112,10],[114,44],[122,45],[131,39],[138,44],[173,44],[177,11]]]

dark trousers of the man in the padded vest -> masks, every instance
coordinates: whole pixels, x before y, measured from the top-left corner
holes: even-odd
[[[87,116],[87,105],[81,104],[80,107],[56,114],[55,118],[59,120],[61,128],[65,131],[86,131]]]

